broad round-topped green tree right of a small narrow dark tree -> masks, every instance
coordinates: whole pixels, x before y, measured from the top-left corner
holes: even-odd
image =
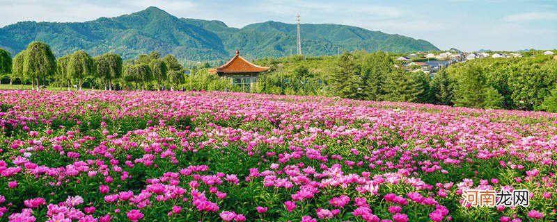
[[[484,94],[481,93],[484,78],[480,70],[472,65],[465,65],[463,69],[457,69],[455,78],[457,83],[453,94],[455,106],[481,108],[484,101]]]

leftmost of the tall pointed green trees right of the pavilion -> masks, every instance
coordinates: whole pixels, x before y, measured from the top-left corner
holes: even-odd
[[[336,96],[348,99],[361,99],[360,67],[354,56],[343,53],[336,62],[335,73],[331,76],[331,85]]]

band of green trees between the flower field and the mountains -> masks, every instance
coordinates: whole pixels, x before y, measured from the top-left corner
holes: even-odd
[[[249,89],[209,74],[204,62],[185,74],[172,55],[157,52],[123,61],[116,54],[91,57],[85,51],[54,58],[47,44],[32,42],[13,61],[0,50],[0,75],[10,80],[59,87],[97,89],[184,89],[340,96],[373,101],[407,101],[470,108],[504,108],[557,112],[557,62],[549,56],[526,56],[459,62],[437,74],[400,69],[398,54],[345,52],[339,56],[263,58]],[[11,64],[11,65],[10,65]]]

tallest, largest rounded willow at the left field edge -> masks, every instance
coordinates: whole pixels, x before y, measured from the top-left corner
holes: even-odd
[[[31,89],[36,83],[37,91],[39,91],[39,80],[45,77],[53,76],[56,73],[56,58],[50,50],[50,46],[45,42],[31,42],[27,46],[24,62],[23,73],[31,79]]]

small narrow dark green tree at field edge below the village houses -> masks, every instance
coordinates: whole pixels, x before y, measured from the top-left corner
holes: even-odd
[[[446,69],[441,69],[433,77],[431,92],[434,103],[440,105],[453,105],[453,79],[447,74]]]

